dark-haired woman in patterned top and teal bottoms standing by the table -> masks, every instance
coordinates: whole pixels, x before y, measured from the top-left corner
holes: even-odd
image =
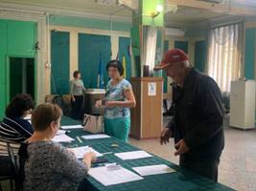
[[[96,106],[105,105],[105,134],[128,141],[129,108],[135,107],[135,97],[130,83],[122,76],[124,68],[120,61],[109,61],[106,71],[110,80],[106,85],[105,104],[99,100]]]

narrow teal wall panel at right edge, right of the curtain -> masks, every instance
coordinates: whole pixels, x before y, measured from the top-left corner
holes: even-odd
[[[254,79],[256,28],[245,30],[244,77]]]

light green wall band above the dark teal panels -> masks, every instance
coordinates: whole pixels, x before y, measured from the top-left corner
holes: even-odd
[[[50,25],[60,25],[69,27],[83,27],[97,30],[110,30],[110,16],[107,20],[95,18],[82,18],[75,16],[50,15]],[[112,31],[129,32],[131,23],[112,22]]]

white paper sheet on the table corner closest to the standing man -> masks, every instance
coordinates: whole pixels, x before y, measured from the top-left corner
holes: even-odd
[[[149,176],[149,175],[158,175],[158,174],[176,172],[173,168],[170,168],[165,164],[139,166],[139,167],[133,167],[132,169],[136,171],[140,176]]]

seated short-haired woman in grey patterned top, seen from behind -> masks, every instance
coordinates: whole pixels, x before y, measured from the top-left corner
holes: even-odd
[[[34,134],[19,149],[24,190],[77,190],[96,157],[75,155],[53,142],[58,132],[61,109],[56,104],[38,105],[32,115]]]

